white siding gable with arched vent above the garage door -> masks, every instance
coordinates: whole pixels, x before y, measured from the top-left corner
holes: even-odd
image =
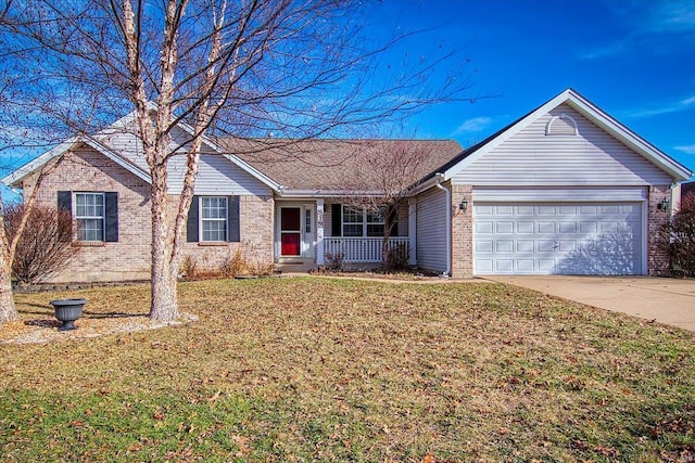
[[[578,134],[546,136],[554,116],[569,115]],[[475,156],[475,153],[472,154]],[[563,104],[462,169],[454,183],[476,185],[669,184],[668,173]]]

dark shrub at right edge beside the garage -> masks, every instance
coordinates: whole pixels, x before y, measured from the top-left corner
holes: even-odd
[[[695,276],[695,194],[681,201],[681,208],[658,234],[658,247],[669,258],[670,270]]]

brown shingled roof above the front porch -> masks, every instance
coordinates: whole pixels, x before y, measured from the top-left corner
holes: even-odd
[[[446,165],[463,147],[454,140],[337,140],[313,139],[216,139],[229,154],[237,155],[252,167],[280,184],[285,191],[340,192],[345,179],[357,169],[359,153],[365,150],[386,152],[397,150],[424,153],[416,178],[422,178]]]

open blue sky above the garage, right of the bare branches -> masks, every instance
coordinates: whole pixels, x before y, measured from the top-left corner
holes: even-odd
[[[469,146],[571,87],[695,170],[695,0],[402,0],[379,14],[433,27],[412,52],[450,47],[470,60],[468,94],[496,95],[428,110],[418,137]]]

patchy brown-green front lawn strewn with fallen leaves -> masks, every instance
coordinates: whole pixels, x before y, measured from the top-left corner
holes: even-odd
[[[149,287],[17,295],[144,313]],[[661,461],[691,333],[500,284],[180,285],[182,326],[0,346],[4,461]],[[77,323],[79,325],[79,322]],[[2,330],[2,329],[0,329]]]

